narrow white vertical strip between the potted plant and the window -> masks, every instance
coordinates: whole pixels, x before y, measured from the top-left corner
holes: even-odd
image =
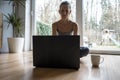
[[[31,1],[26,0],[26,13],[25,13],[25,46],[24,50],[29,51],[31,50],[31,33],[32,33],[32,18],[31,18]]]

